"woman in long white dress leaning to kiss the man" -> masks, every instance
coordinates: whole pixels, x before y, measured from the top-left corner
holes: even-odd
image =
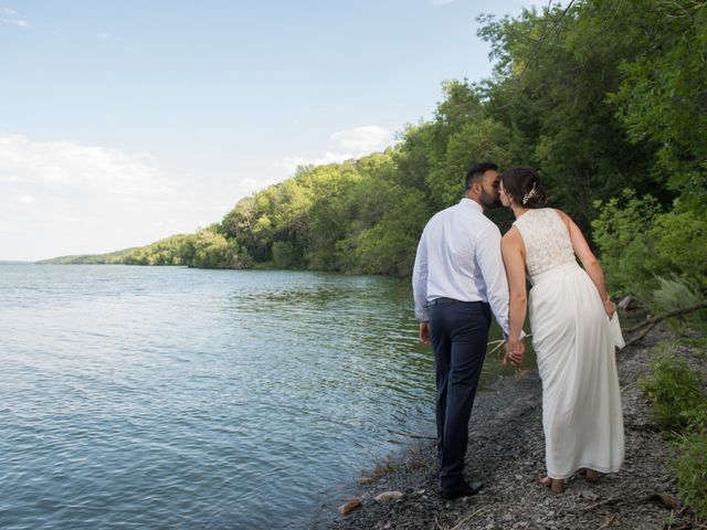
[[[618,471],[623,462],[621,394],[608,318],[616,308],[582,232],[566,213],[541,208],[546,195],[538,174],[514,168],[500,180],[500,200],[516,216],[502,241],[510,290],[506,360],[523,361],[518,343],[527,271],[532,347],[542,379],[547,477],[541,483],[561,492],[578,470],[595,481],[598,471]]]

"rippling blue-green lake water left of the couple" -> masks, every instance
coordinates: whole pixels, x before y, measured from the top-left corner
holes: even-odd
[[[433,434],[416,335],[390,278],[0,266],[0,528],[302,528]]]

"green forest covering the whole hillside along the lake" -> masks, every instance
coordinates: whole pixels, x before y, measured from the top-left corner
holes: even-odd
[[[707,3],[585,0],[482,15],[490,78],[453,80],[383,152],[296,173],[221,222],[106,261],[410,275],[474,161],[537,169],[614,295],[707,290]],[[509,212],[489,214],[504,232]]]

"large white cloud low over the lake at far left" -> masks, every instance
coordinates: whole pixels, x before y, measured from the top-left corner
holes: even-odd
[[[220,220],[215,202],[149,155],[0,134],[0,259],[145,245]]]

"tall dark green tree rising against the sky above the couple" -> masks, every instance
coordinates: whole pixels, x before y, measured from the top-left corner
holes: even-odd
[[[602,2],[484,19],[496,77],[481,87],[487,112],[509,131],[511,163],[539,168],[550,203],[589,229],[598,199],[654,188],[647,146],[631,142],[609,94],[634,45]]]

